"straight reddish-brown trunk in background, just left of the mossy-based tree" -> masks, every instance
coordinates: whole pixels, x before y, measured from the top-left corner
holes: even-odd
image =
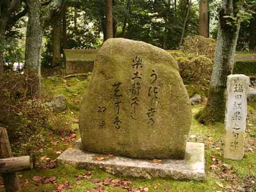
[[[200,1],[199,35],[209,37],[208,31],[208,0]]]

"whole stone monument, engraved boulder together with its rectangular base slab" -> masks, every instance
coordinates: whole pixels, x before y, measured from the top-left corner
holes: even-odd
[[[204,144],[187,143],[190,126],[191,103],[172,56],[142,41],[109,39],[82,101],[81,140],[57,161],[204,181]]]

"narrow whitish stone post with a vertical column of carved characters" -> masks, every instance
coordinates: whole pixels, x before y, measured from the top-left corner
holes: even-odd
[[[224,135],[224,158],[242,160],[247,116],[249,77],[232,74],[227,81],[227,101]]]

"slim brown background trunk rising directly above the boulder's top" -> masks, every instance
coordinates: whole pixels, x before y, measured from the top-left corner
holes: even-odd
[[[106,0],[106,39],[113,38],[112,0]]]

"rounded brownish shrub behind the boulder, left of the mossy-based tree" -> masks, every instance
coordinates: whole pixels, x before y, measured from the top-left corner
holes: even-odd
[[[213,60],[215,47],[216,41],[214,39],[196,35],[185,37],[181,50],[191,57],[204,55]]]

